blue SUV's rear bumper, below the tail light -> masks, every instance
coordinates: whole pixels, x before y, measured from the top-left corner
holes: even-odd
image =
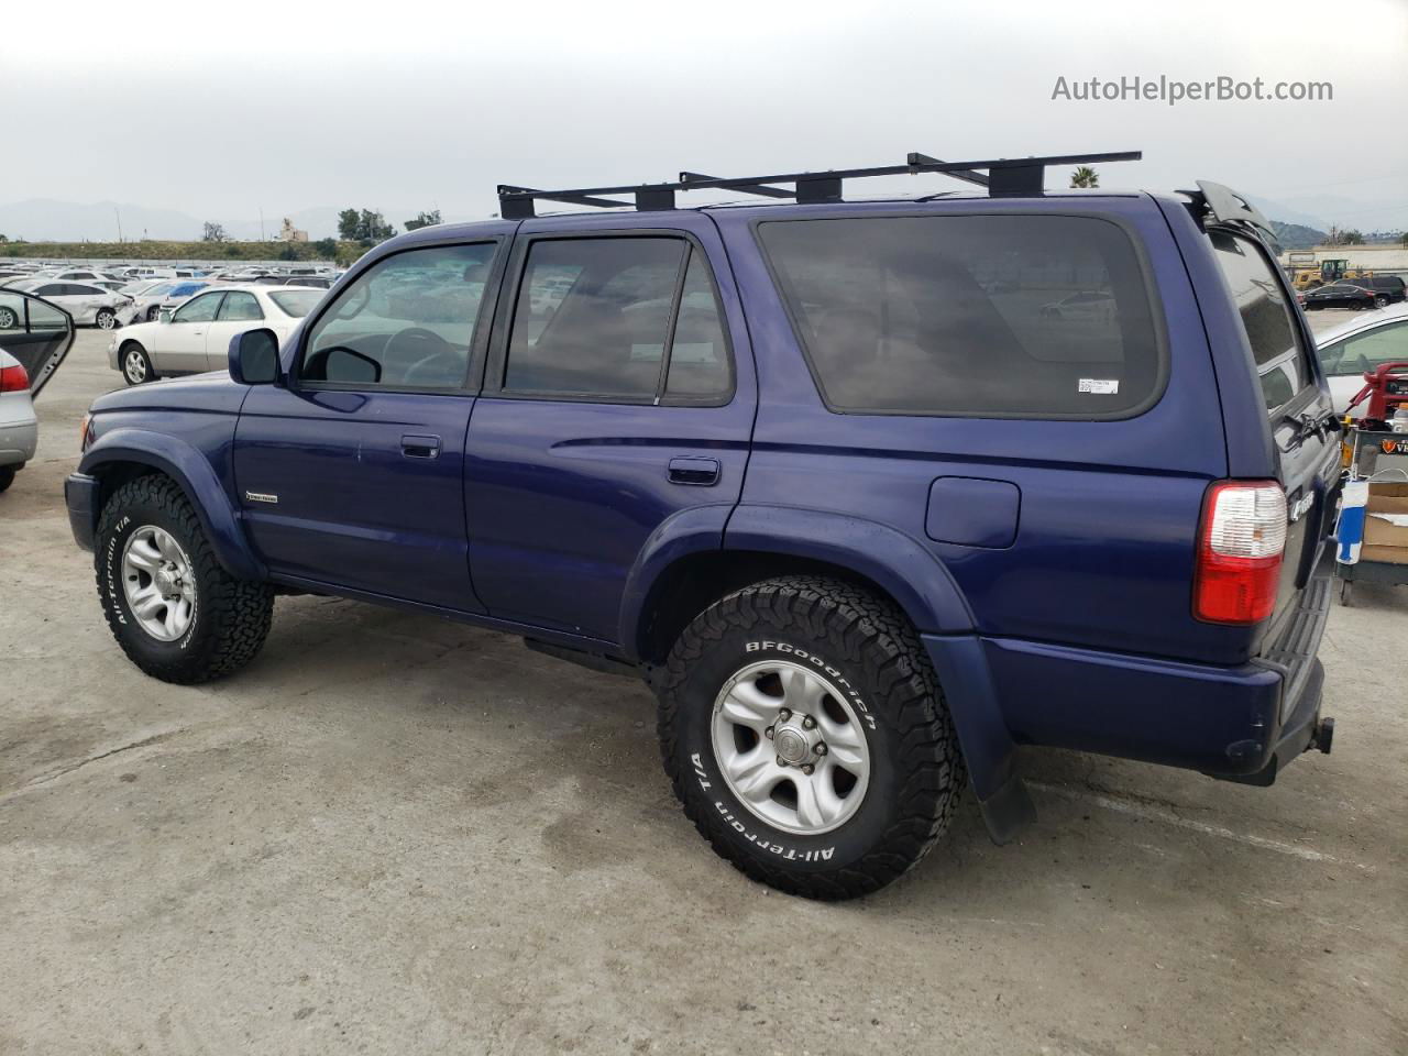
[[[1314,577],[1276,642],[1262,658],[1235,667],[977,639],[987,672],[981,680],[964,679],[964,690],[973,681],[986,684],[987,701],[950,690],[962,655],[956,639],[926,636],[925,645],[967,756],[974,755],[970,731],[983,728],[991,741],[997,724],[988,718],[983,725],[960,712],[981,710],[988,717],[997,712],[1017,745],[1070,748],[1270,784],[1315,742],[1319,729],[1325,672],[1315,652],[1329,600],[1329,576]],[[972,666],[979,656],[969,650],[964,659]]]

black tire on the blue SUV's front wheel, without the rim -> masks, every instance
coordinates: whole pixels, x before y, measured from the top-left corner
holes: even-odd
[[[122,590],[122,548],[144,525],[170,532],[196,573],[196,611],[173,642],[148,635]],[[193,686],[230,674],[255,658],[273,620],[273,590],[235,579],[215,560],[200,518],[170,477],[145,476],[122,484],[103,507],[94,545],[103,614],[127,659],[162,681]]]

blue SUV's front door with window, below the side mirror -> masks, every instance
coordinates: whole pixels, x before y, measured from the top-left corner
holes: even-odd
[[[439,244],[372,262],[300,331],[287,387],[251,389],[235,484],[276,576],[483,612],[463,469],[496,251]]]

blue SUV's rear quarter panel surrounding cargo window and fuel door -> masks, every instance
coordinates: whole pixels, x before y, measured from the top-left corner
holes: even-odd
[[[1245,648],[1191,615],[1202,496],[1226,473],[1208,342],[1187,270],[1157,206],[1145,196],[1002,203],[877,204],[848,215],[1097,214],[1142,245],[1167,384],[1148,411],[1119,421],[1035,421],[836,414],[822,403],[779,300],[752,222],[762,210],[719,210],[745,298],[760,390],[742,503],[825,510],[894,527],[949,570],[973,627],[1095,649],[1235,662]],[[788,218],[803,218],[796,211]],[[834,210],[817,215],[838,215]],[[1010,482],[1019,490],[1004,548],[935,542],[925,532],[939,477]],[[1240,652],[1240,656],[1239,656]]]

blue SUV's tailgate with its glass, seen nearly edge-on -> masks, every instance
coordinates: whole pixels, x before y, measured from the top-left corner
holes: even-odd
[[[1294,296],[1264,246],[1229,230],[1209,230],[1208,238],[1256,363],[1262,407],[1245,413],[1269,415],[1274,474],[1286,489],[1290,511],[1281,584],[1269,624],[1274,628],[1309,580],[1333,517],[1339,432],[1305,424],[1324,418],[1332,404],[1321,390],[1321,369],[1295,314]]]

